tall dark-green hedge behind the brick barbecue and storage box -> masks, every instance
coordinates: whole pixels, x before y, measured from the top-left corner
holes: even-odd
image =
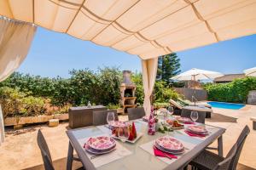
[[[19,72],[12,74],[7,80],[0,82],[1,87],[9,87],[35,98],[49,99],[51,105],[109,105],[118,107],[119,86],[122,81],[122,71],[118,68],[105,67],[98,71],[73,70],[70,78],[48,78],[24,75]],[[137,103],[143,104],[143,77],[141,73],[132,73],[132,82],[137,86]],[[178,94],[172,88],[166,87],[166,82],[155,82],[154,101],[168,102],[177,99]]]

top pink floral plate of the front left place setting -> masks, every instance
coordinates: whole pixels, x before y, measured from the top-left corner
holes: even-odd
[[[108,136],[99,136],[96,138],[90,138],[86,144],[93,150],[110,150],[115,146],[115,140]]]

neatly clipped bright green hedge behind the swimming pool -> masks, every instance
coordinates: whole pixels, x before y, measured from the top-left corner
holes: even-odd
[[[249,91],[256,89],[256,78],[246,77],[228,83],[207,84],[205,88],[209,100],[246,103]]]

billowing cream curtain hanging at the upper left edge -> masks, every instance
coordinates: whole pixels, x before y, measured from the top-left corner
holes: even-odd
[[[37,27],[0,17],[0,82],[26,58]]]

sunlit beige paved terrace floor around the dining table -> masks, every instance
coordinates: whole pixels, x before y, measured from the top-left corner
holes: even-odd
[[[213,109],[214,114],[207,124],[217,127],[225,127],[224,155],[235,143],[241,129],[249,125],[251,133],[241,152],[239,170],[256,169],[256,131],[252,130],[251,116],[256,116],[256,105],[246,105],[241,110]],[[120,116],[121,120],[127,120],[127,116]],[[62,122],[58,127],[46,125],[30,126],[20,131],[6,130],[6,140],[0,146],[0,169],[44,169],[43,161],[37,144],[37,131],[42,129],[44,137],[49,144],[49,150],[54,161],[55,169],[66,169],[67,145],[66,135],[68,123]],[[216,146],[214,142],[212,146]],[[81,167],[79,162],[73,167]]]

